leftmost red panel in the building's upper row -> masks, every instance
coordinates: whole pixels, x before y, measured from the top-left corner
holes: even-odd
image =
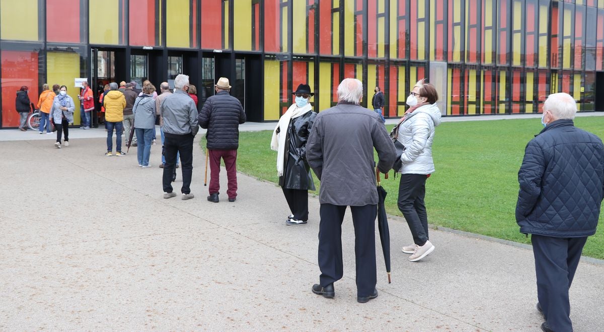
[[[80,0],[48,0],[46,19],[49,42],[80,42]]]

